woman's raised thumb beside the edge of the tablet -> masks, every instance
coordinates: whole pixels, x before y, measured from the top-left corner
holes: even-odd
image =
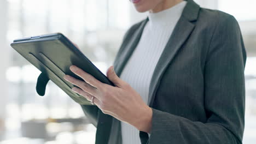
[[[124,86],[124,81],[121,80],[117,74],[115,73],[115,70],[114,70],[114,66],[112,65],[111,67],[108,68],[107,70],[107,77],[110,81],[112,81],[115,86],[117,87],[123,87]]]

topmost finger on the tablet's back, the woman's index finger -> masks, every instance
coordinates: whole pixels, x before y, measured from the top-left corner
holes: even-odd
[[[95,79],[94,76],[86,73],[84,70],[78,68],[77,66],[75,65],[72,65],[70,67],[70,70],[78,75],[79,77],[81,77],[84,81],[86,81],[87,83],[89,83],[90,85],[100,89],[102,87],[102,82],[98,81],[97,79]]]

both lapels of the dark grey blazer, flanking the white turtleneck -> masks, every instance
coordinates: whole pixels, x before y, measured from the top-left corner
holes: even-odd
[[[155,70],[153,72],[152,79],[149,86],[149,98],[148,105],[153,106],[153,101],[155,98],[156,90],[158,89],[162,75],[164,74],[168,65],[171,64],[173,57],[176,55],[177,51],[182,47],[183,43],[188,39],[190,33],[193,31],[195,25],[194,21],[197,20],[200,7],[193,0],[187,0],[187,4],[184,7],[182,16],[177,22],[170,39],[162,52],[158,63],[156,64]],[[129,41],[124,41],[125,45],[122,45],[120,49],[123,50],[123,55],[117,58],[115,61],[115,71],[118,76],[120,76],[123,71],[125,64],[132,55],[133,50],[136,48],[139,39],[141,38],[144,26],[148,21],[143,20],[138,29],[132,34],[133,36]]]

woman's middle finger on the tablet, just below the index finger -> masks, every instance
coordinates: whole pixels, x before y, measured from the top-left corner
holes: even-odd
[[[97,97],[98,89],[90,86],[89,83],[75,79],[74,77],[72,77],[70,75],[65,75],[63,78],[65,80],[67,80],[68,82],[72,83],[73,85],[80,87],[81,89],[83,89],[83,91],[88,92],[91,95],[94,95],[95,97]]]

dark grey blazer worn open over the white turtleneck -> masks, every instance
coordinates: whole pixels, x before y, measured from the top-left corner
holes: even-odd
[[[114,61],[120,76],[147,19],[125,34]],[[156,47],[157,49],[157,47]],[[246,51],[236,19],[188,0],[154,70],[149,89],[152,132],[142,143],[242,143]],[[97,127],[96,143],[121,143],[120,121],[82,106]]]

